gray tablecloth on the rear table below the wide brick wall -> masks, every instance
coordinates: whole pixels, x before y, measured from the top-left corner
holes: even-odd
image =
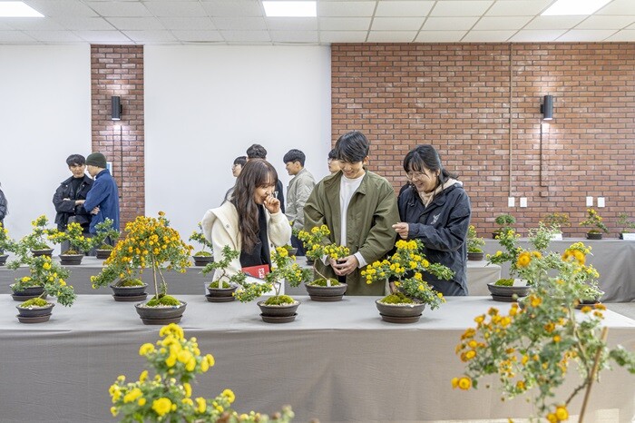
[[[635,301],[635,241],[584,240],[581,238],[565,238],[552,241],[549,250],[564,252],[573,242],[584,242],[591,246],[591,254],[587,264],[592,264],[600,272],[600,288],[604,291],[601,300],[604,302]],[[521,238],[519,245],[529,247],[526,238]],[[502,247],[495,240],[485,240],[484,251],[494,254]],[[503,264],[503,278],[509,276],[509,263]]]

